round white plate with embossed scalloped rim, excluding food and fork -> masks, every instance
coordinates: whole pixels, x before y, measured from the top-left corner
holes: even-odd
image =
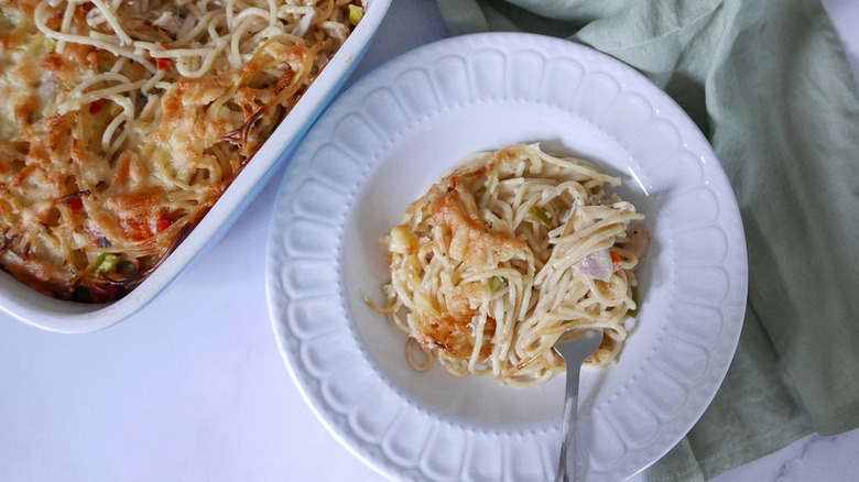
[[[579,450],[587,480],[654,462],[719,387],[746,306],[746,244],[705,138],[633,69],[531,34],[445,40],[342,95],[296,153],[274,209],[267,287],[283,357],[322,421],[391,479],[554,476],[563,376],[536,388],[409,368],[381,303],[378,238],[466,154],[543,141],[622,178],[654,244],[620,362],[585,369]]]

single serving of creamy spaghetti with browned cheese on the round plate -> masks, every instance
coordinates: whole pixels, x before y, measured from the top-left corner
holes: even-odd
[[[616,360],[650,245],[644,216],[605,189],[619,183],[517,144],[467,157],[412,202],[382,239],[391,282],[377,307],[409,333],[409,363],[537,384],[564,370],[555,342],[584,328],[604,332],[588,362]]]

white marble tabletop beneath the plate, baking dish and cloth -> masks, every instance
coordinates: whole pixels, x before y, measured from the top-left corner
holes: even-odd
[[[859,70],[859,2],[824,3]],[[395,0],[354,78],[446,34],[434,2]],[[263,245],[281,177],[115,327],[55,335],[0,315],[0,480],[383,480],[316,420],[278,352]],[[857,456],[857,430],[813,436],[718,481],[859,480]]]

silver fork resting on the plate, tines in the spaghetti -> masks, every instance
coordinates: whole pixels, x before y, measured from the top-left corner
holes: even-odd
[[[579,335],[580,333],[580,335]],[[564,424],[561,428],[561,457],[557,462],[555,482],[576,480],[576,418],[578,413],[578,379],[581,363],[599,348],[602,330],[585,330],[574,333],[576,338],[558,341],[555,350],[564,357],[567,365],[567,388],[564,399]]]

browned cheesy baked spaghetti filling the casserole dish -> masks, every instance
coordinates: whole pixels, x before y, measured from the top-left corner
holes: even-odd
[[[65,299],[137,286],[352,25],[348,0],[0,0],[0,266]]]

